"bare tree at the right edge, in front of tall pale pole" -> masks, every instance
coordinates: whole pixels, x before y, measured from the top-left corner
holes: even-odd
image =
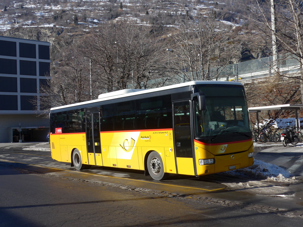
[[[271,14],[271,8],[274,8]],[[256,26],[256,31],[271,40],[277,46],[279,54],[293,56],[298,61],[297,74],[282,74],[285,77],[297,78],[299,81],[301,100],[303,102],[303,5],[301,1],[281,0],[268,2],[255,2],[255,5],[247,6],[254,15],[251,18]],[[271,16],[274,18],[271,19]],[[273,26],[275,24],[275,26]],[[281,60],[281,59],[280,59]],[[273,62],[273,64],[278,64]],[[275,68],[274,68],[275,69]],[[279,71],[276,70],[279,74]]]

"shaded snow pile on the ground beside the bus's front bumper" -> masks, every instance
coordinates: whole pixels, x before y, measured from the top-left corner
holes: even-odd
[[[228,175],[262,179],[262,181],[294,182],[291,173],[274,164],[255,160],[252,166],[225,172]]]

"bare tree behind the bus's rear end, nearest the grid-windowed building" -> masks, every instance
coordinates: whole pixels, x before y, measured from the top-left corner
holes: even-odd
[[[40,88],[40,109],[68,105],[98,97],[97,80],[90,73],[90,62],[78,51],[69,47],[62,51],[63,61],[52,68],[52,79]]]

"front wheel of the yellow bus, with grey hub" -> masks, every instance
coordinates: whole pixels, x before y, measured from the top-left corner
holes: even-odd
[[[149,175],[155,180],[162,180],[166,177],[161,156],[158,152],[153,151],[147,158],[147,169]]]

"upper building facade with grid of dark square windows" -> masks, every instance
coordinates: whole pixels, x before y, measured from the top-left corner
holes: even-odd
[[[0,113],[49,109],[49,54],[47,42],[0,36]]]

